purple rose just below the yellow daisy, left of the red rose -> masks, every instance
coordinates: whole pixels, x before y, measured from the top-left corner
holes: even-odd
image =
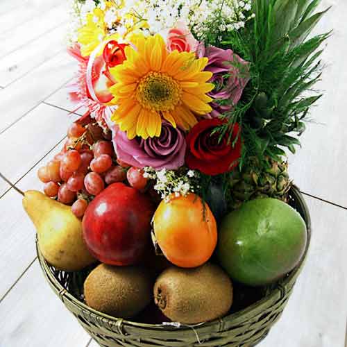
[[[162,124],[160,136],[148,139],[128,139],[125,132],[115,128],[113,144],[119,160],[139,169],[174,170],[185,163],[185,133],[166,121]]]

